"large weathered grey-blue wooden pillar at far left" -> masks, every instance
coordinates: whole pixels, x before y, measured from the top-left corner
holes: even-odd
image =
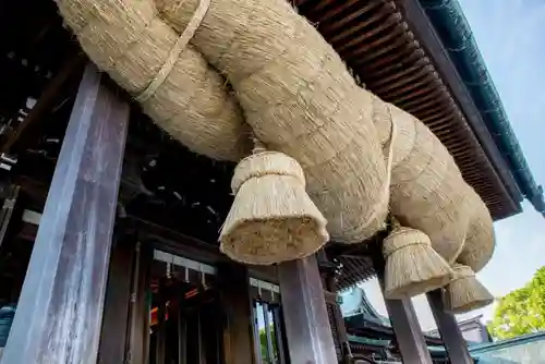
[[[97,360],[129,105],[87,65],[2,363]]]

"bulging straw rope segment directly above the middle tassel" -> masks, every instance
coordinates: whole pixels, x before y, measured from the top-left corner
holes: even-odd
[[[377,130],[389,130],[393,123],[398,131],[391,156],[392,216],[428,235],[434,250],[451,264],[463,246],[470,216],[458,166],[433,132],[410,113],[378,101],[374,110]]]

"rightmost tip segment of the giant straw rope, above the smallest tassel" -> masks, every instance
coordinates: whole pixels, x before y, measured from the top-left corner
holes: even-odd
[[[492,216],[481,196],[468,186],[467,198],[471,205],[472,216],[465,243],[457,262],[481,271],[491,260],[496,247]]]

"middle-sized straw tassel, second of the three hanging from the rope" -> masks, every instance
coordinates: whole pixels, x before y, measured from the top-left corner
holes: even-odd
[[[429,238],[420,230],[395,223],[385,239],[385,298],[411,298],[444,287],[453,278],[448,263],[432,247]]]

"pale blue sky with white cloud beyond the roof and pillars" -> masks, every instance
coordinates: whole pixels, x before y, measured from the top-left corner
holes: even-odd
[[[537,183],[545,185],[545,1],[459,0]],[[479,274],[496,296],[532,278],[545,265],[545,219],[529,203],[524,213],[495,223],[497,247]],[[375,281],[362,286],[386,314]],[[435,327],[424,296],[414,299],[424,330]],[[493,306],[465,316],[483,314]]]

